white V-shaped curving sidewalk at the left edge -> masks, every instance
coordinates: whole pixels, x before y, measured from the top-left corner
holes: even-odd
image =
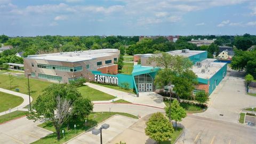
[[[2,88],[0,88],[0,91],[4,92],[4,93],[9,93],[9,94],[12,94],[12,95],[16,95],[16,96],[21,97],[23,99],[23,102],[19,106],[15,107],[15,108],[12,108],[11,111],[9,111],[9,110],[3,111],[2,113],[0,113],[0,116],[11,113],[11,112],[16,111],[16,110],[25,110],[25,111],[28,110],[28,109],[23,109],[23,107],[26,107],[27,105],[29,105],[29,97],[28,97],[27,94],[14,92],[14,91],[2,89]],[[30,97],[30,100],[32,102],[33,98]]]

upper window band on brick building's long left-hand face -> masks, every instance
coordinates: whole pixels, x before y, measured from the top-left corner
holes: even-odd
[[[55,69],[60,71],[82,71],[83,67],[63,67],[63,66],[55,66],[55,65],[45,65],[45,64],[37,64],[38,68],[46,68],[46,69]]]

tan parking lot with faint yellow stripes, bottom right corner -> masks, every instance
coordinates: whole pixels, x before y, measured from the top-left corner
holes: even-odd
[[[188,115],[182,121],[186,127],[177,143],[238,144],[255,143],[256,129],[247,125]],[[184,138],[184,139],[183,139]],[[183,140],[185,140],[183,142]]]

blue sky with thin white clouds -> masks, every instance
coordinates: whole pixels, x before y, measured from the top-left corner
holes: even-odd
[[[256,35],[256,0],[0,0],[8,36]]]

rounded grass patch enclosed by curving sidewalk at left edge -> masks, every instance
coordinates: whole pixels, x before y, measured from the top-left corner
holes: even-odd
[[[0,112],[6,111],[9,108],[19,106],[24,100],[21,97],[0,92]]]

